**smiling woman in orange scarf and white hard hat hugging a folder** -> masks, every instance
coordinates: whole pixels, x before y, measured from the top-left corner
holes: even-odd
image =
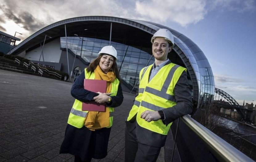
[[[75,161],[91,161],[107,156],[109,134],[113,123],[113,107],[123,101],[117,68],[117,51],[105,46],[99,56],[76,79],[71,95],[76,99],[68,117],[68,125],[60,153],[75,155]],[[106,93],[86,90],[84,79],[106,80]],[[106,111],[82,111],[82,102],[105,103]]]

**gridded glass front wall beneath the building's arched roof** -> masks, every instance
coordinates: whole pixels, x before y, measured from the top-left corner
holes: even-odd
[[[78,37],[68,37],[68,48],[70,48],[77,55],[81,55],[86,62],[91,62],[97,58],[99,51],[102,47],[108,46],[109,41],[97,39],[97,38],[86,38],[83,39],[83,47],[81,50],[82,41]],[[140,44],[140,43],[138,43]],[[127,46],[121,43],[111,42],[111,45],[116,48],[118,53],[118,68],[120,68],[120,77],[128,85],[134,87],[139,78],[139,72],[143,67],[146,67],[148,59],[151,57],[145,51],[140,50],[141,47]],[[65,37],[60,38],[61,48],[66,48]],[[151,51],[151,49],[143,48],[144,50]],[[127,51],[126,51],[127,50]],[[154,58],[151,59],[151,64],[154,63]],[[135,86],[137,88],[137,86]]]

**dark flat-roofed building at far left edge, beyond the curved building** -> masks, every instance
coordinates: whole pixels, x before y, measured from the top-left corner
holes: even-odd
[[[16,41],[20,41],[20,38],[0,31],[0,52],[4,54],[9,52],[11,48],[14,48]]]

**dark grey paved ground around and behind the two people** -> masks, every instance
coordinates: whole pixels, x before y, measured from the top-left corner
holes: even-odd
[[[0,161],[74,161],[70,154],[59,154],[74,102],[71,86],[0,70]],[[124,121],[133,99],[133,94],[124,92],[122,105],[115,108],[108,156],[100,161],[124,161]],[[163,161],[163,151],[158,161]]]

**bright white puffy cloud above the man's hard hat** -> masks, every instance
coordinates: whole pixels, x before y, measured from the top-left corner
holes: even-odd
[[[204,0],[151,0],[136,2],[136,12],[153,22],[172,21],[187,26],[197,23],[207,14]]]

